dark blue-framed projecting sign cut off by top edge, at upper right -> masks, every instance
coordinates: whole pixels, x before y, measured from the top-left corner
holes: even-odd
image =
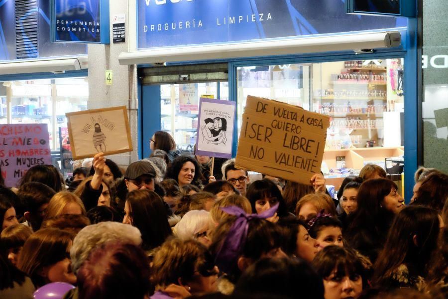
[[[379,14],[412,16],[416,14],[415,1],[408,0],[347,0],[347,12],[355,14]]]

